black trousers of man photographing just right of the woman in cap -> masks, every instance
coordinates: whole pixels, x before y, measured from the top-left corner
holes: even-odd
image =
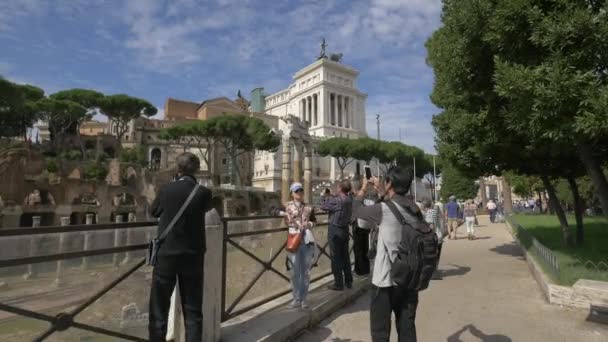
[[[348,253],[348,228],[330,226],[327,238],[329,239],[334,285],[344,287],[344,284],[352,284],[353,274]]]

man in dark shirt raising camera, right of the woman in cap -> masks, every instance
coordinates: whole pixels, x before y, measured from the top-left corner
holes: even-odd
[[[353,200],[349,195],[350,182],[341,181],[339,190],[335,196],[326,191],[321,198],[321,209],[329,212],[327,240],[331,252],[331,271],[334,274],[334,283],[328,288],[334,291],[342,291],[344,286],[350,289],[353,285],[348,252],[348,224],[352,219],[353,210]]]

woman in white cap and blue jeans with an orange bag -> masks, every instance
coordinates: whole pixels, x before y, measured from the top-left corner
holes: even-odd
[[[285,223],[289,227],[289,234],[303,234],[297,251],[288,253],[287,264],[291,266],[291,289],[293,301],[287,306],[290,309],[308,308],[306,297],[310,284],[310,269],[315,253],[315,239],[312,227],[316,222],[313,208],[304,203],[304,188],[300,183],[293,183],[289,187],[292,201],[285,205]]]

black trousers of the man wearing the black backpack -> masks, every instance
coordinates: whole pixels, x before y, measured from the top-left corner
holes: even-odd
[[[399,342],[416,342],[416,309],[418,291],[404,291],[396,286],[371,288],[369,311],[372,342],[388,342],[391,335],[391,313],[395,313]]]

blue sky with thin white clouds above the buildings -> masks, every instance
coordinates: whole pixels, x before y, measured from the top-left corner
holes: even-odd
[[[440,0],[1,0],[0,75],[53,93],[234,98],[286,88],[320,38],[360,71],[367,129],[433,151],[432,70],[424,42]]]

